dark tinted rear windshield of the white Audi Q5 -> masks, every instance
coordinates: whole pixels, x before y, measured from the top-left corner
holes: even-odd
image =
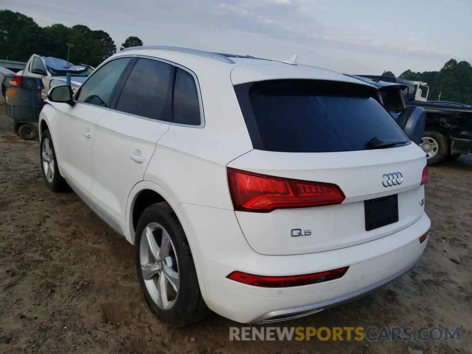
[[[269,80],[235,85],[254,149],[346,152],[369,141],[410,141],[365,85],[320,80]]]

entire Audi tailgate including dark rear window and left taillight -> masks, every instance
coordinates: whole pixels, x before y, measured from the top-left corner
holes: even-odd
[[[255,149],[229,163],[228,179],[256,252],[347,247],[421,218],[425,155],[368,87],[271,80],[235,90]]]

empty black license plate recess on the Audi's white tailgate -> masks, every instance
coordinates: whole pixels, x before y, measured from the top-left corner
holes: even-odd
[[[398,194],[364,201],[365,230],[370,231],[398,221]]]

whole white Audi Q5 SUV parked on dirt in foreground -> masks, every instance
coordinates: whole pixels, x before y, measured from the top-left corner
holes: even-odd
[[[46,185],[67,182],[135,245],[171,326],[319,312],[427,244],[424,152],[374,86],[295,59],[128,48],[75,94],[53,87],[39,124]]]

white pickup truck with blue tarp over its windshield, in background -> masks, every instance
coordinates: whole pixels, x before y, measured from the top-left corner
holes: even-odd
[[[44,84],[42,97],[46,99],[51,87],[66,83],[67,72],[71,75],[71,86],[75,92],[87,76],[93,72],[93,69],[94,67],[89,65],[74,65],[63,59],[33,54],[26,63],[25,69],[19,71],[17,75],[41,77]]]

